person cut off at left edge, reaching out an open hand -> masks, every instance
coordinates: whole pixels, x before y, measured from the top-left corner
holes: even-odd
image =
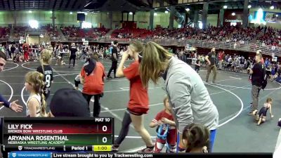
[[[0,72],[4,70],[4,66],[6,65],[6,54],[3,51],[0,51]],[[22,112],[22,106],[18,105],[18,100],[13,102],[8,102],[3,96],[0,94],[0,107],[4,105],[5,107],[11,108],[11,110],[15,112]]]

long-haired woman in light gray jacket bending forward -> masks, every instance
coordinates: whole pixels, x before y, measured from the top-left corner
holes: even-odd
[[[148,86],[150,80],[157,84],[160,77],[164,78],[180,138],[185,126],[203,124],[211,133],[211,152],[218,128],[218,110],[195,70],[162,46],[148,42],[143,49],[140,74],[143,86]],[[179,147],[183,147],[182,141],[179,143]]]

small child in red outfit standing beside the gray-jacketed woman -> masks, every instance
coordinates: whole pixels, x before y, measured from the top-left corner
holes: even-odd
[[[154,128],[157,126],[157,129],[159,129],[160,126],[168,129],[164,129],[163,131],[160,131],[161,133],[158,133],[160,135],[163,135],[165,133],[164,130],[169,130],[168,133],[166,133],[166,136],[162,138],[157,138],[155,142],[155,148],[154,152],[161,152],[164,145],[168,143],[169,145],[169,152],[175,152],[176,149],[176,124],[174,122],[174,117],[171,114],[171,107],[169,105],[168,97],[164,98],[164,107],[165,109],[159,112],[155,119],[153,119],[150,122],[150,127]],[[158,130],[157,130],[158,131]],[[166,150],[167,151],[167,150]]]

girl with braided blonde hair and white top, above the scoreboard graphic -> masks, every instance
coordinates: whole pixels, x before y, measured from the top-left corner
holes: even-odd
[[[27,72],[25,89],[30,92],[27,100],[27,117],[46,117],[46,101],[43,95],[44,74]]]

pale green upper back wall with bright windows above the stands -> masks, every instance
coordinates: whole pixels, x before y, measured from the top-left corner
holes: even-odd
[[[13,18],[15,17],[15,19]],[[16,20],[16,25],[24,26],[28,25],[29,20],[39,21],[39,25],[52,24],[52,13],[50,11],[0,11],[0,26],[8,27],[8,25],[13,25]],[[77,13],[73,12],[71,15],[68,11],[55,11],[55,25],[60,26],[79,26],[77,22]],[[110,28],[110,14],[103,13],[89,13],[86,15],[86,22],[91,22],[93,27],[104,26]],[[124,20],[127,19],[126,14],[124,14]],[[113,12],[112,13],[112,28],[122,27],[121,21],[122,13]],[[133,20],[133,15],[129,15],[129,21]],[[148,28],[150,21],[150,12],[137,12],[134,17],[134,21],[137,22],[137,27]],[[157,13],[155,16],[153,26],[156,27],[160,25],[162,27],[169,26],[169,13]],[[174,27],[178,27],[178,23],[174,20]]]

